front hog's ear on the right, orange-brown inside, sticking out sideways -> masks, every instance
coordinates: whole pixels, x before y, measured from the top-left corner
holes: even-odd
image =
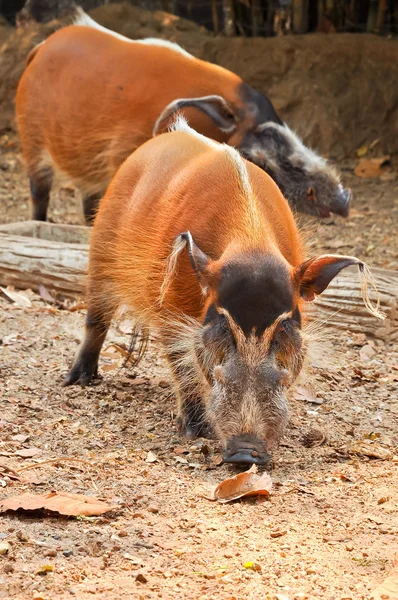
[[[314,300],[315,296],[321,294],[342,269],[351,265],[364,268],[364,263],[355,256],[325,254],[307,260],[297,267],[294,275],[299,285],[300,296],[307,301]]]

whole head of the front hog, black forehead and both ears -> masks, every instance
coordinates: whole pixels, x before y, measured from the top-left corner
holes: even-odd
[[[286,391],[306,355],[303,303],[341,269],[362,263],[325,255],[292,267],[260,250],[212,261],[189,232],[183,236],[206,294],[195,351],[210,386],[207,419],[226,462],[264,464],[285,429]]]

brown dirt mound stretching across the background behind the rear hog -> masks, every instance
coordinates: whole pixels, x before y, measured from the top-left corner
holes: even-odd
[[[396,40],[364,34],[226,39],[191,21],[127,4],[90,14],[127,37],[170,39],[235,71],[325,154],[347,155],[377,138],[380,151],[398,152]],[[29,50],[58,27],[53,21],[15,30],[0,50],[0,128],[15,127],[15,89]]]

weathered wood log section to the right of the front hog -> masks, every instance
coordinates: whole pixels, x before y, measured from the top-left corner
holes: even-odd
[[[309,315],[330,328],[364,333],[386,342],[398,339],[398,271],[372,269],[378,289],[380,307],[386,314],[384,321],[366,310],[362,299],[361,283],[356,267],[342,271],[315,302],[309,305]],[[376,302],[374,290],[370,299]]]

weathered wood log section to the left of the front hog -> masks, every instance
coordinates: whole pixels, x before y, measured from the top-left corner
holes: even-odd
[[[84,293],[90,228],[24,221],[0,226],[0,285]]]

